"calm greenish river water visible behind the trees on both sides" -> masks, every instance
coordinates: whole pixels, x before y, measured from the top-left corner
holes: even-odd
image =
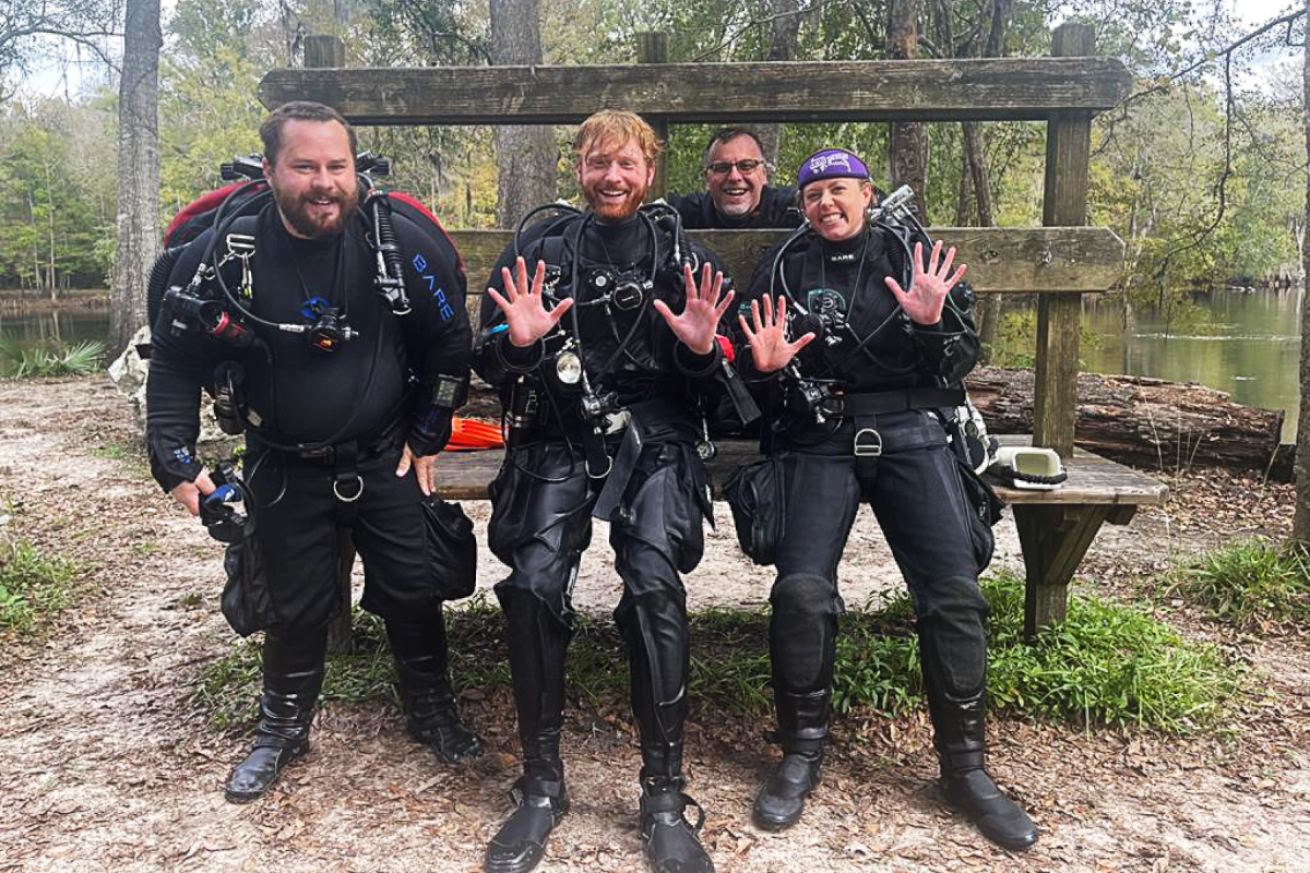
[[[1120,299],[1083,299],[1083,328],[1096,337],[1083,343],[1086,370],[1199,381],[1248,406],[1286,410],[1284,442],[1296,436],[1300,385],[1301,290],[1197,295],[1188,313],[1134,308]],[[1006,307],[1010,311],[1010,307]],[[0,337],[21,346],[103,340],[107,311],[34,315],[0,312]],[[8,362],[0,360],[0,374]]]

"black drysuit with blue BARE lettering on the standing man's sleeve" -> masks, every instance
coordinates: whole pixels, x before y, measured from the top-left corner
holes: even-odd
[[[341,607],[338,528],[352,530],[363,557],[365,608],[410,625],[441,619],[422,493],[413,475],[397,478],[394,471],[406,442],[415,455],[434,455],[449,438],[453,410],[434,405],[432,393],[439,376],[468,374],[464,266],[444,232],[413,206],[393,199],[392,222],[413,307],[402,317],[375,291],[376,256],[363,212],[345,233],[321,240],[291,236],[271,202],[257,218],[238,220],[237,229],[255,239],[246,307],[291,324],[313,321],[316,304],[342,309],[359,336],[333,353],[312,349],[304,334],[258,325],[252,326],[258,341],[236,349],[166,304],[155,325],[148,443],[152,472],[165,490],[200,471],[200,388],[212,387],[221,362],[244,370],[246,506],[255,532],[253,544],[229,554],[229,572],[266,581],[262,624],[283,637],[324,627]],[[191,281],[212,235],[190,244],[169,284]],[[220,241],[219,256],[223,250]],[[224,273],[233,288],[236,266]],[[212,282],[206,292],[217,294]],[[174,321],[183,325],[179,333]],[[414,389],[407,388],[410,372],[419,380]],[[261,556],[262,573],[241,566]]]

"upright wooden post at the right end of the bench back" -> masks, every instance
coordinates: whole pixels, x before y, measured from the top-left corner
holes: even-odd
[[[1087,25],[1062,24],[1052,37],[1057,58],[1093,54],[1095,34]],[[1047,178],[1041,223],[1074,227],[1087,223],[1087,161],[1091,113],[1056,113],[1047,122]],[[1032,444],[1073,455],[1078,417],[1078,345],[1082,296],[1043,295],[1038,301],[1038,366]]]

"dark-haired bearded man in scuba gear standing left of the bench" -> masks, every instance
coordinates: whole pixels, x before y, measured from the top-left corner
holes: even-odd
[[[468,381],[462,263],[411,201],[364,199],[355,132],[335,110],[287,104],[259,134],[271,194],[178,257],[148,381],[152,472],[193,515],[219,497],[195,457],[200,388],[223,383],[246,429],[250,523],[227,568],[249,617],[238,629],[266,634],[254,748],[227,784],[237,804],[308,750],[343,528],[364,561],[362,606],[386,624],[409,731],[451,763],[481,750],[451,692],[423,509]],[[386,218],[369,225],[362,206]]]

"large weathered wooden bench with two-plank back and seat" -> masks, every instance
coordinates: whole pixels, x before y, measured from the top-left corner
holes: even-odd
[[[1062,619],[1069,579],[1100,526],[1123,524],[1136,506],[1165,497],[1159,482],[1074,450],[1081,295],[1111,287],[1123,267],[1123,241],[1086,227],[1091,119],[1128,96],[1127,68],[1093,56],[1091,28],[1076,22],[1053,31],[1051,58],[673,64],[664,63],[665,34],[638,41],[637,64],[351,69],[338,38],[312,35],[307,68],[270,71],[259,98],[270,109],[317,100],[360,125],[572,125],[597,109],[630,109],[660,136],[684,122],[1044,122],[1044,227],[934,228],[934,236],[958,245],[980,294],[1038,295],[1032,442],[1058,451],[1070,478],[1056,492],[1003,495],[1027,565],[1028,630]],[[665,193],[665,180],[662,157],[652,194]],[[477,292],[508,235],[452,236]],[[701,236],[739,281],[776,239],[766,231]],[[720,447],[719,481],[734,457],[749,454],[749,446]],[[483,498],[499,463],[499,452],[444,456],[443,493]]]

